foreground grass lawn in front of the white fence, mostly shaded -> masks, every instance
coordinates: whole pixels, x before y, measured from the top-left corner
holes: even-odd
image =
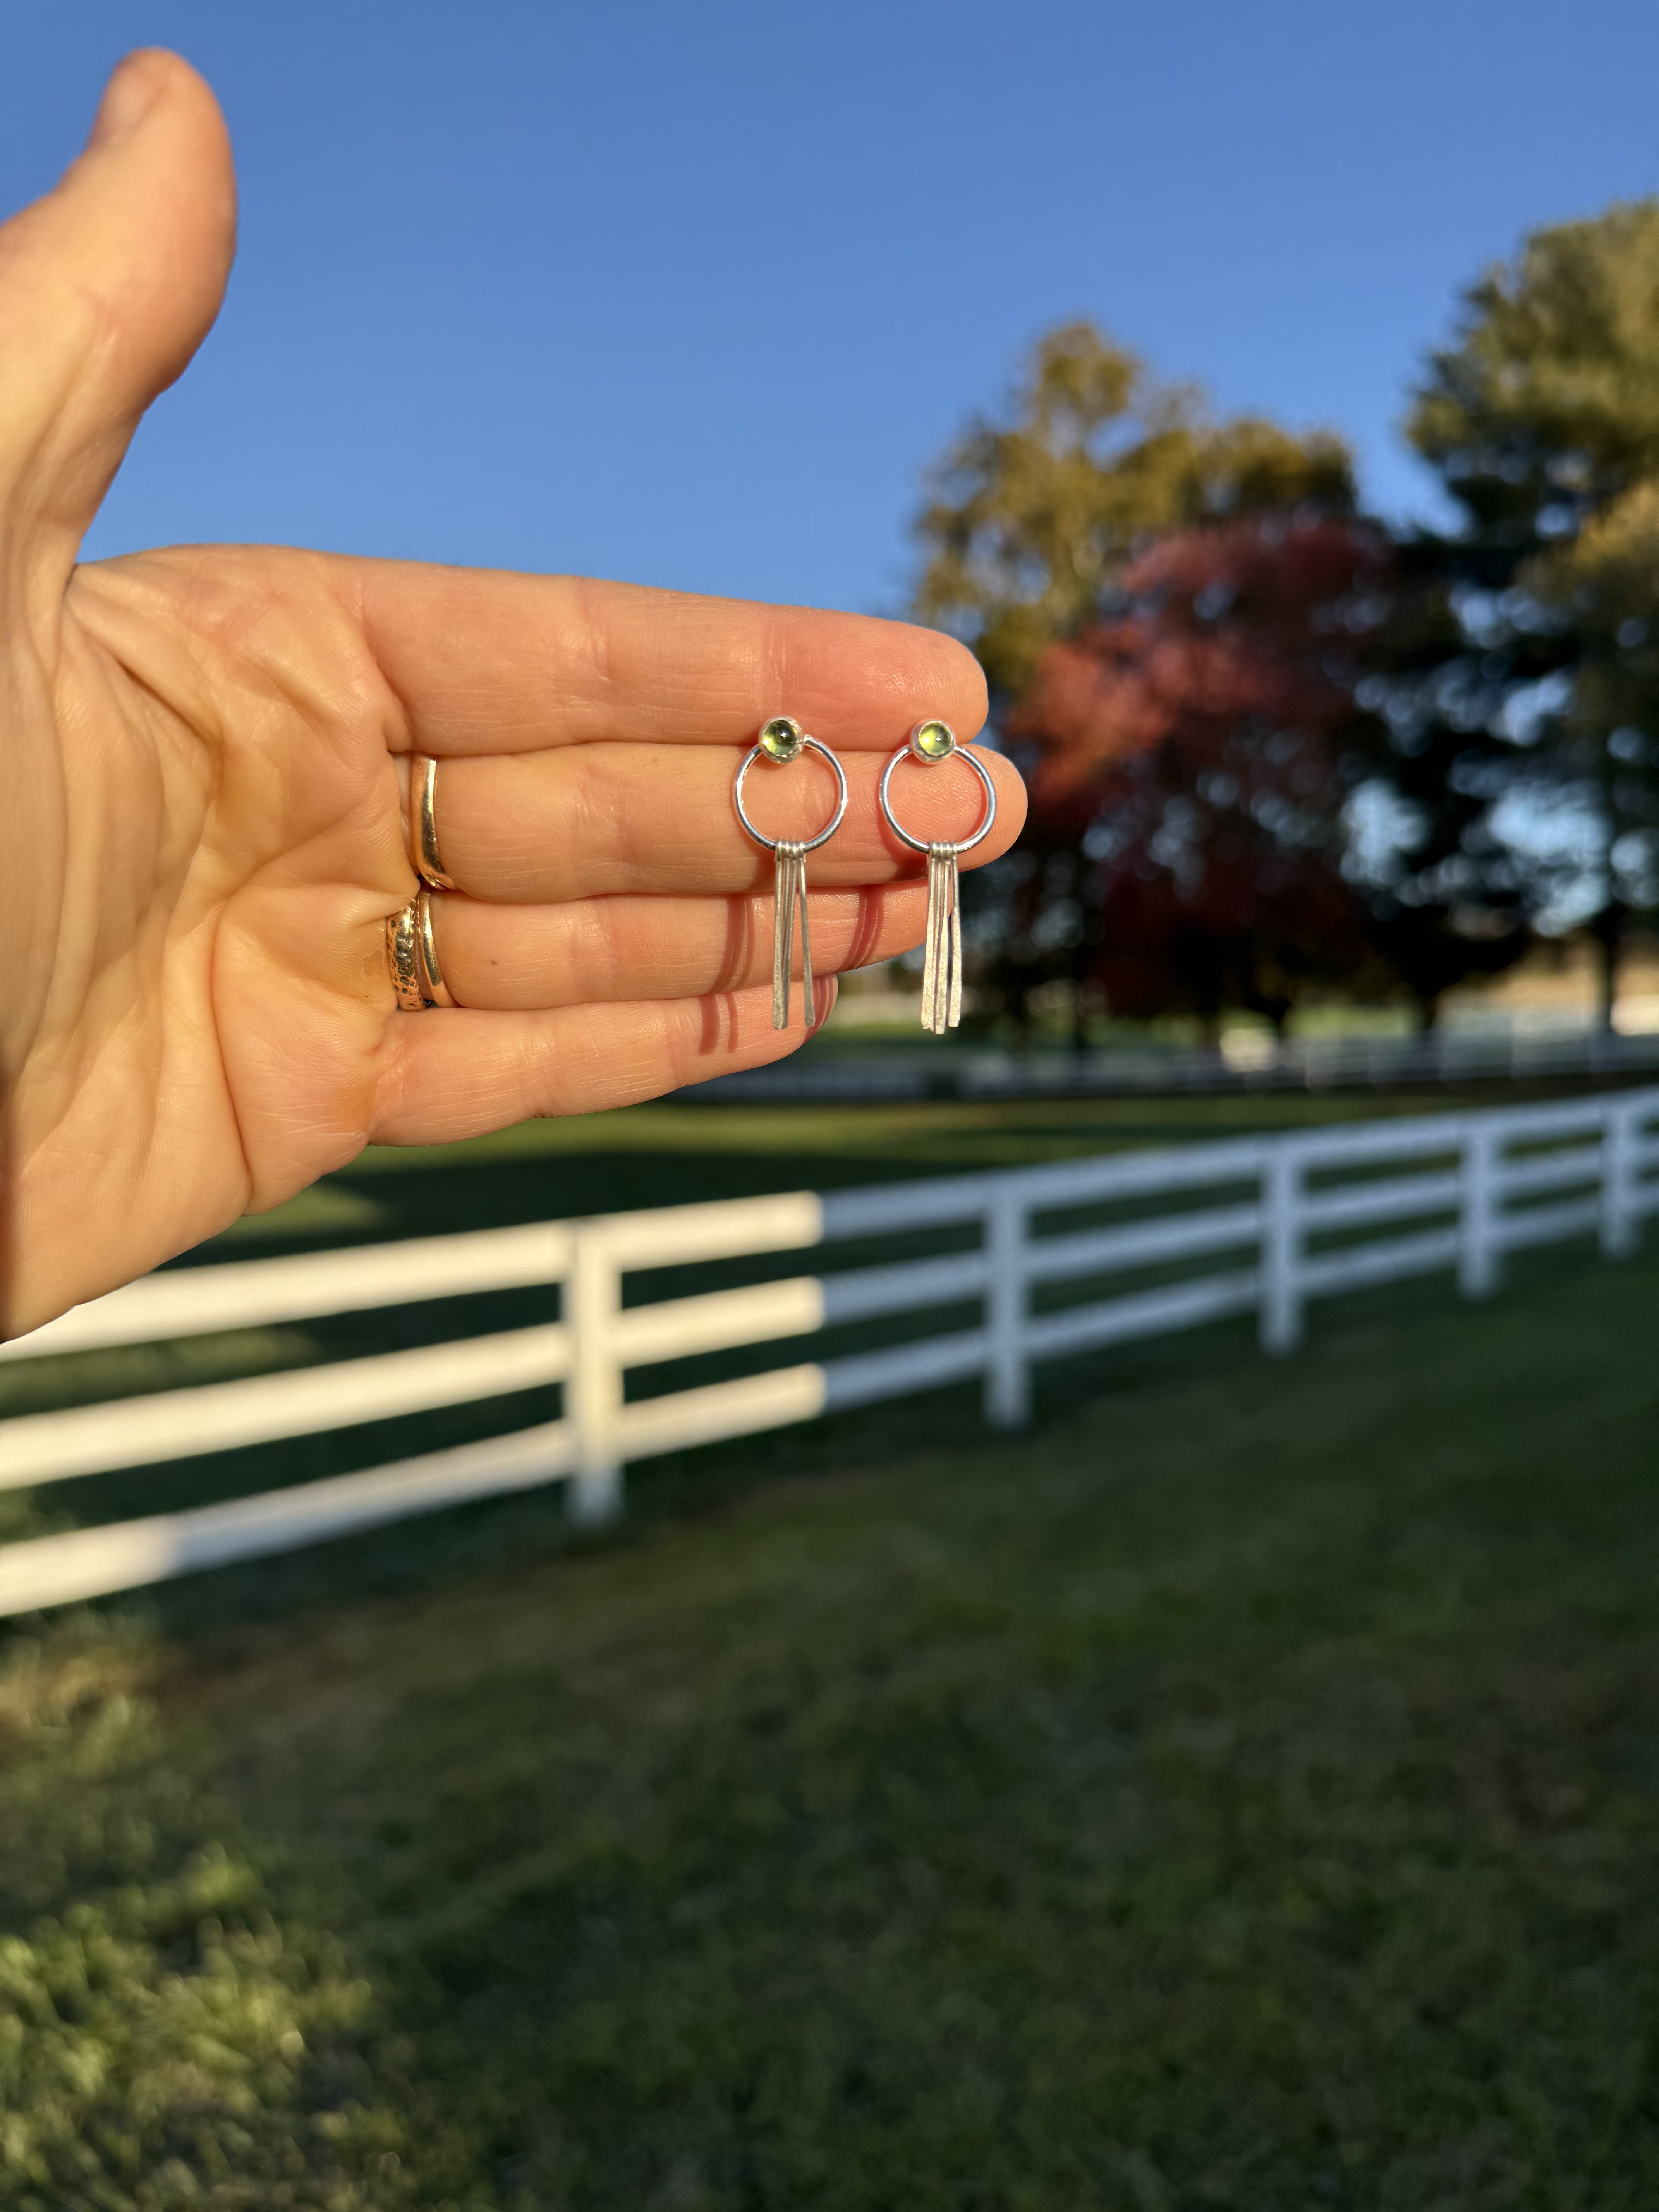
[[[0,2205],[1648,2212],[1657,1321],[1555,1254],[13,1639]]]

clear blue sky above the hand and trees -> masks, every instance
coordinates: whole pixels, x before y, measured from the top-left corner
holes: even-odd
[[[1455,288],[1659,188],[1652,0],[0,0],[0,199],[170,44],[243,243],[91,551],[184,538],[898,611],[1048,323],[1394,425]]]

